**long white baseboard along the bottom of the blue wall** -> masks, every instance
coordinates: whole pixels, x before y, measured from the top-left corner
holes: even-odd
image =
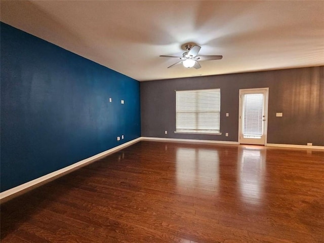
[[[34,185],[36,185],[38,183],[47,181],[47,180],[49,180],[49,179],[51,179],[53,177],[56,177],[56,176],[58,176],[60,174],[66,173],[66,172],[71,171],[73,169],[76,169],[78,167],[85,166],[86,164],[89,164],[93,160],[96,160],[96,159],[98,159],[98,158],[100,158],[102,156],[106,156],[108,154],[111,154],[113,152],[116,152],[117,150],[120,150],[122,148],[128,147],[128,146],[130,146],[130,145],[132,145],[134,143],[137,143],[140,140],[141,140],[141,137],[136,138],[136,139],[134,139],[132,141],[129,141],[129,142],[124,143],[124,144],[120,144],[120,145],[118,145],[118,146],[116,146],[114,148],[108,149],[106,151],[103,151],[101,153],[98,153],[96,155],[93,155],[93,156],[91,156],[89,158],[86,158],[86,159],[83,159],[81,161],[78,161],[75,164],[72,164],[70,166],[64,167],[64,168],[62,168],[60,170],[54,171],[54,172],[52,172],[50,174],[47,174],[45,176],[38,177],[38,178],[36,178],[36,179],[34,179],[32,181],[28,181],[28,182],[26,182],[24,184],[21,184],[19,186],[14,187],[14,188],[11,188],[9,190],[3,191],[3,192],[0,193],[0,200],[3,199],[3,198],[5,198],[5,197],[7,197],[7,196],[13,195],[13,194],[15,194],[15,193],[17,193],[19,191],[25,190],[28,187],[31,187],[31,186],[34,186]]]

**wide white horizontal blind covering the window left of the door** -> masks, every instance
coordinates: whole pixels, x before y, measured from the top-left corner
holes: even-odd
[[[176,91],[176,132],[219,133],[220,89]]]

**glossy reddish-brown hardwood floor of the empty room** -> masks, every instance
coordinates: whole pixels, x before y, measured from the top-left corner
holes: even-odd
[[[1,242],[324,242],[324,151],[141,141],[2,203]]]

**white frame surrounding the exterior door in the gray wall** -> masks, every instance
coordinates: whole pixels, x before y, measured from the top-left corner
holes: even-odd
[[[266,97],[265,97],[265,123],[264,123],[264,146],[267,145],[267,134],[268,134],[268,100],[269,100],[269,88],[253,88],[253,89],[239,89],[238,91],[238,144],[241,144],[240,140],[240,134],[242,129],[242,123],[241,123],[241,108],[242,108],[242,99],[241,95],[242,92],[246,91],[265,91]]]

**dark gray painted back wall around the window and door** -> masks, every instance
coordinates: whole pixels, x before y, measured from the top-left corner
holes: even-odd
[[[268,87],[267,143],[324,146],[324,66],[155,80],[140,85],[144,137],[238,141],[239,89]],[[221,89],[222,135],[175,134],[175,90],[210,88]],[[276,117],[276,112],[283,116]]]

